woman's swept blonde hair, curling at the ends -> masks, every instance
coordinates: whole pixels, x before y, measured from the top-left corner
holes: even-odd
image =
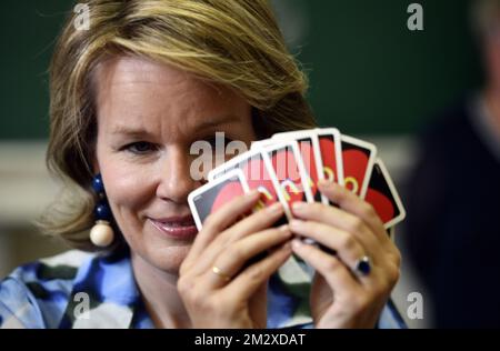
[[[172,64],[240,92],[258,138],[316,127],[307,78],[288,51],[267,0],[90,0],[89,30],[67,20],[50,67],[49,169],[63,193],[40,225],[80,249],[94,249],[91,161],[97,133],[92,71],[109,56]]]

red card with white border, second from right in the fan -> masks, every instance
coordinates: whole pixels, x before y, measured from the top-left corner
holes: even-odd
[[[364,199],[377,157],[377,148],[369,142],[341,136],[343,184]],[[324,161],[324,160],[323,160]]]

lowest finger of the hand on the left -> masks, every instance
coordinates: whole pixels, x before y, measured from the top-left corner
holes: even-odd
[[[267,258],[244,269],[224,288],[227,299],[233,300],[236,297],[241,300],[250,299],[259,287],[290,258],[291,252],[291,245],[288,242]]]

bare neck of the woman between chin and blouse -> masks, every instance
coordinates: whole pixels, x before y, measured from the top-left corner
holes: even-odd
[[[157,328],[190,328],[191,322],[177,290],[178,275],[159,270],[131,253],[133,275],[146,309]]]

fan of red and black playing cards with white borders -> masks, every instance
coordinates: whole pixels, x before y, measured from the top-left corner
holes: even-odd
[[[286,223],[296,201],[329,203],[316,185],[320,179],[337,182],[371,203],[386,229],[406,217],[376,147],[336,128],[278,133],[257,141],[250,151],[213,169],[208,179],[188,198],[198,230],[224,202],[254,189],[262,193],[254,211],[280,201],[286,214],[277,225]]]

